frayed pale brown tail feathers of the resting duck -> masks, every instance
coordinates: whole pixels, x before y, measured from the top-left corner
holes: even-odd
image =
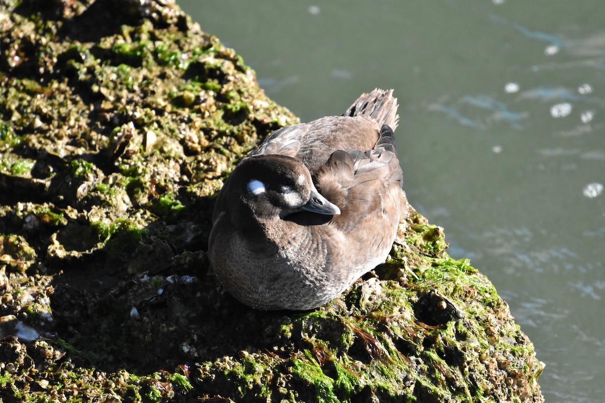
[[[393,98],[393,90],[383,91],[374,89],[369,94],[362,94],[353,105],[351,105],[342,116],[365,115],[373,118],[379,126],[387,125],[393,129],[397,128],[397,98]]]

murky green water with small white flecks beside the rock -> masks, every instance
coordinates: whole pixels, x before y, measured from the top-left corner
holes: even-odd
[[[180,5],[303,121],[394,88],[410,202],[508,301],[546,401],[603,400],[603,0]]]

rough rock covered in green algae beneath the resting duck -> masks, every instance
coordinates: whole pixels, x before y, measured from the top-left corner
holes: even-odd
[[[2,399],[543,401],[506,303],[409,205],[315,311],[217,285],[214,196],[297,120],[173,2],[0,0],[0,27]]]

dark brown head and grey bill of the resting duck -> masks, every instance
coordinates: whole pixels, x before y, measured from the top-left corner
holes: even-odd
[[[237,195],[257,218],[285,219],[299,211],[341,213],[338,206],[319,194],[307,167],[286,155],[245,158],[229,176],[228,186],[231,196],[227,199]]]

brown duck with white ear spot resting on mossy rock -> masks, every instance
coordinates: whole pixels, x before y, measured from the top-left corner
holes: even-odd
[[[253,308],[305,310],[384,262],[401,210],[392,90],[273,132],[231,173],[212,216],[214,274]]]

